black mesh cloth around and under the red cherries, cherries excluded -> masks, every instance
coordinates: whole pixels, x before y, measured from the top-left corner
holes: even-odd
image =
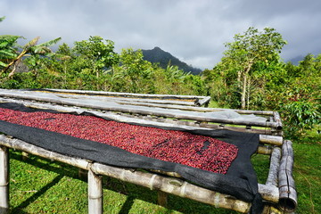
[[[28,112],[50,111],[31,109],[17,103],[0,103],[0,108]],[[175,129],[182,130],[180,128]],[[252,213],[259,213],[262,208],[261,197],[258,193],[257,177],[250,160],[251,154],[256,152],[259,145],[259,135],[257,134],[229,130],[199,129],[189,131],[195,135],[211,136],[237,146],[238,154],[235,161],[232,162],[226,175],[222,175],[183,164],[144,157],[108,144],[62,135],[40,128],[21,126],[4,120],[0,120],[0,132],[19,138],[29,144],[35,144],[49,151],[97,161],[103,164],[134,169],[175,171],[196,185],[201,185],[219,193],[230,194],[245,202],[252,202]]]

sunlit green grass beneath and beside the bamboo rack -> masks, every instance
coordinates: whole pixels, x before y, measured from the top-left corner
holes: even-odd
[[[297,213],[321,211],[321,144],[315,132],[293,142],[293,177],[298,192]],[[268,177],[269,157],[254,155],[252,163],[259,183]],[[78,169],[21,152],[10,151],[11,213],[87,213],[87,184]],[[104,213],[236,213],[201,202],[169,195],[167,208],[157,205],[157,193],[147,188],[103,177]]]

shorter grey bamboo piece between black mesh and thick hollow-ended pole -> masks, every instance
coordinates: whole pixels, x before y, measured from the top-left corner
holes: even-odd
[[[280,166],[281,149],[279,147],[273,148],[270,159],[270,168],[268,170],[268,179],[266,185],[276,185],[278,180],[278,169]]]

